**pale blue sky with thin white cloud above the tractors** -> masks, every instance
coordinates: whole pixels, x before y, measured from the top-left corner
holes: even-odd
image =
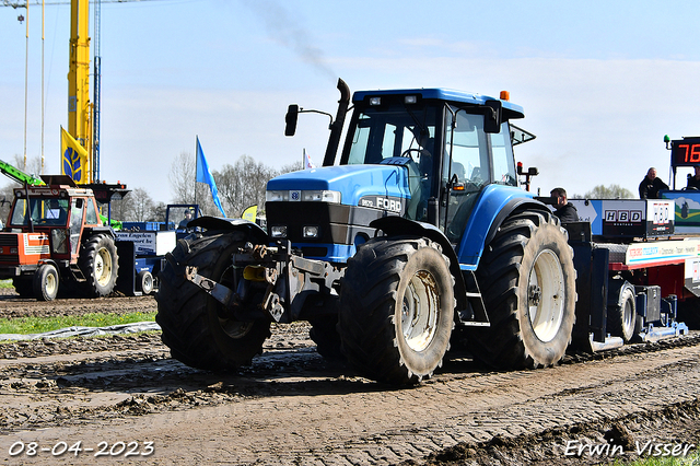
[[[0,160],[24,154],[25,118],[27,156],[42,153],[44,49],[54,174],[68,125],[70,5],[45,12],[42,40],[42,8],[30,7],[27,40],[26,11],[0,7]],[[516,125],[537,136],[515,148],[539,170],[533,190],[572,197],[618,184],[635,194],[650,166],[669,182],[664,135],[700,136],[699,19],[696,0],[103,2],[101,178],[168,202],[173,161],[194,156],[197,136],[212,171],[244,154],[279,167],[304,149],[320,164],[328,118],[300,115],[289,138],[284,114],[294,103],[335,115],[341,78],[353,92],[508,90],[525,109]]]

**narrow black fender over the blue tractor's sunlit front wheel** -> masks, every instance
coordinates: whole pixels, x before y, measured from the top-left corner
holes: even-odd
[[[434,241],[442,247],[442,254],[450,258],[450,272],[455,279],[455,299],[458,308],[464,308],[467,304],[467,291],[459,270],[459,259],[455,254],[447,236],[438,226],[431,223],[418,222],[398,215],[388,215],[370,222],[373,229],[382,230],[388,236],[423,236]]]

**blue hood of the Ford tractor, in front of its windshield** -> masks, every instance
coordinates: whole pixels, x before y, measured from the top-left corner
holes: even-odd
[[[267,183],[268,199],[272,191],[288,196],[284,200],[290,201],[304,200],[304,193],[335,191],[340,194],[339,201],[346,206],[374,207],[377,197],[409,199],[410,163],[406,158],[393,158],[376,165],[324,166],[287,173]],[[418,176],[417,172],[410,172],[411,178]],[[417,183],[411,179],[411,185]]]

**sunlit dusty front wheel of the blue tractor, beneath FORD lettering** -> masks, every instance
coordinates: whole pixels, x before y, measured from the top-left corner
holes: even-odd
[[[348,261],[338,331],[348,362],[390,384],[442,365],[454,327],[454,279],[440,246],[420,237],[370,240]]]

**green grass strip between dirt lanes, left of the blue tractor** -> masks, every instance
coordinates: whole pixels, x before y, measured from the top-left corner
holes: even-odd
[[[0,334],[44,334],[68,327],[108,327],[110,325],[154,322],[155,312],[128,314],[91,313],[77,316],[0,318]]]

